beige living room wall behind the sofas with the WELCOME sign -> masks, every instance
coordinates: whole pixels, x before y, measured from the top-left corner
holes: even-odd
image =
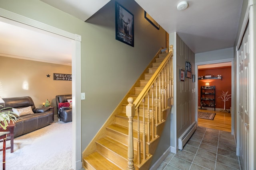
[[[36,107],[41,107],[48,99],[57,114],[55,96],[72,94],[72,81],[53,80],[53,73],[72,74],[71,66],[2,56],[0,62],[2,98],[30,96]],[[25,84],[27,89],[23,87]]]

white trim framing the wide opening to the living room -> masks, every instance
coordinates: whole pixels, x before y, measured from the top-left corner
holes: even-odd
[[[66,32],[64,30],[40,23],[35,20],[31,20],[24,16],[20,16],[13,12],[9,12],[0,8],[0,16],[7,18],[10,21],[17,21],[25,25],[29,25],[38,31],[48,31],[55,36],[62,36],[72,41],[72,168],[82,168],[81,159],[81,36],[73,33]],[[32,38],[32,37],[28,37]]]

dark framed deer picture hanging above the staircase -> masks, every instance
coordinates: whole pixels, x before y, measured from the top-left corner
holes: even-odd
[[[134,17],[116,2],[116,40],[134,47]]]

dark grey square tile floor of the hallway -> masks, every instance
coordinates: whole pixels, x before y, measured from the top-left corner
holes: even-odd
[[[170,153],[157,170],[240,170],[234,135],[198,127],[184,149]]]

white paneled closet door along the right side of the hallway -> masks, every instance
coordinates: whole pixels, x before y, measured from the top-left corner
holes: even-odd
[[[249,169],[249,29],[237,51],[238,63],[238,156],[243,170]]]

